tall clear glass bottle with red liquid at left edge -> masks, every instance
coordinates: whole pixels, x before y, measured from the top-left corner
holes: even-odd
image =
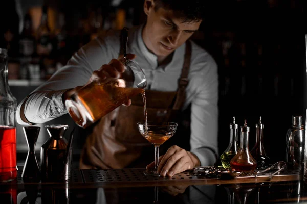
[[[8,84],[8,51],[0,48],[0,182],[16,179],[17,100]]]

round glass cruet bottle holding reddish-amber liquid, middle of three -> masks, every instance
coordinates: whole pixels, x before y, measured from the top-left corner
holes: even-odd
[[[243,172],[244,175],[248,175],[249,173],[254,172],[257,162],[252,157],[248,148],[250,128],[247,126],[246,120],[244,120],[244,126],[240,128],[240,131],[240,148],[237,154],[230,160],[230,166],[232,170],[240,171]]]

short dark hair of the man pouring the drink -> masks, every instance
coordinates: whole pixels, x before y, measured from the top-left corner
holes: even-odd
[[[205,0],[155,0],[155,11],[159,8],[172,10],[183,22],[199,22],[204,19]]]

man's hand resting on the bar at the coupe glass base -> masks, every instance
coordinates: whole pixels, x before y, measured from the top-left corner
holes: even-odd
[[[200,166],[199,159],[189,151],[179,146],[171,146],[165,155],[159,158],[158,172],[161,176],[172,177],[174,174]],[[149,164],[146,169],[155,168],[155,162]]]

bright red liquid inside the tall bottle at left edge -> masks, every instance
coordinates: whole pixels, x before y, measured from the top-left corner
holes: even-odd
[[[16,128],[0,126],[0,181],[16,179],[16,164]]]

